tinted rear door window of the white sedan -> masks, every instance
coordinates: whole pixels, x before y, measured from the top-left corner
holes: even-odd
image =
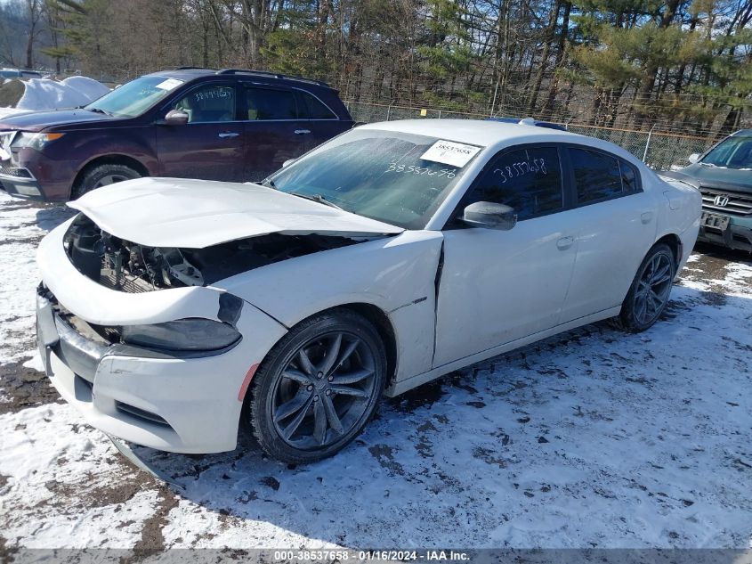
[[[570,148],[570,162],[574,170],[579,204],[608,200],[626,192],[622,188],[622,169],[619,168],[619,159],[616,157],[599,151]],[[625,172],[630,169],[625,163]],[[635,172],[631,172],[631,182],[635,184]]]

